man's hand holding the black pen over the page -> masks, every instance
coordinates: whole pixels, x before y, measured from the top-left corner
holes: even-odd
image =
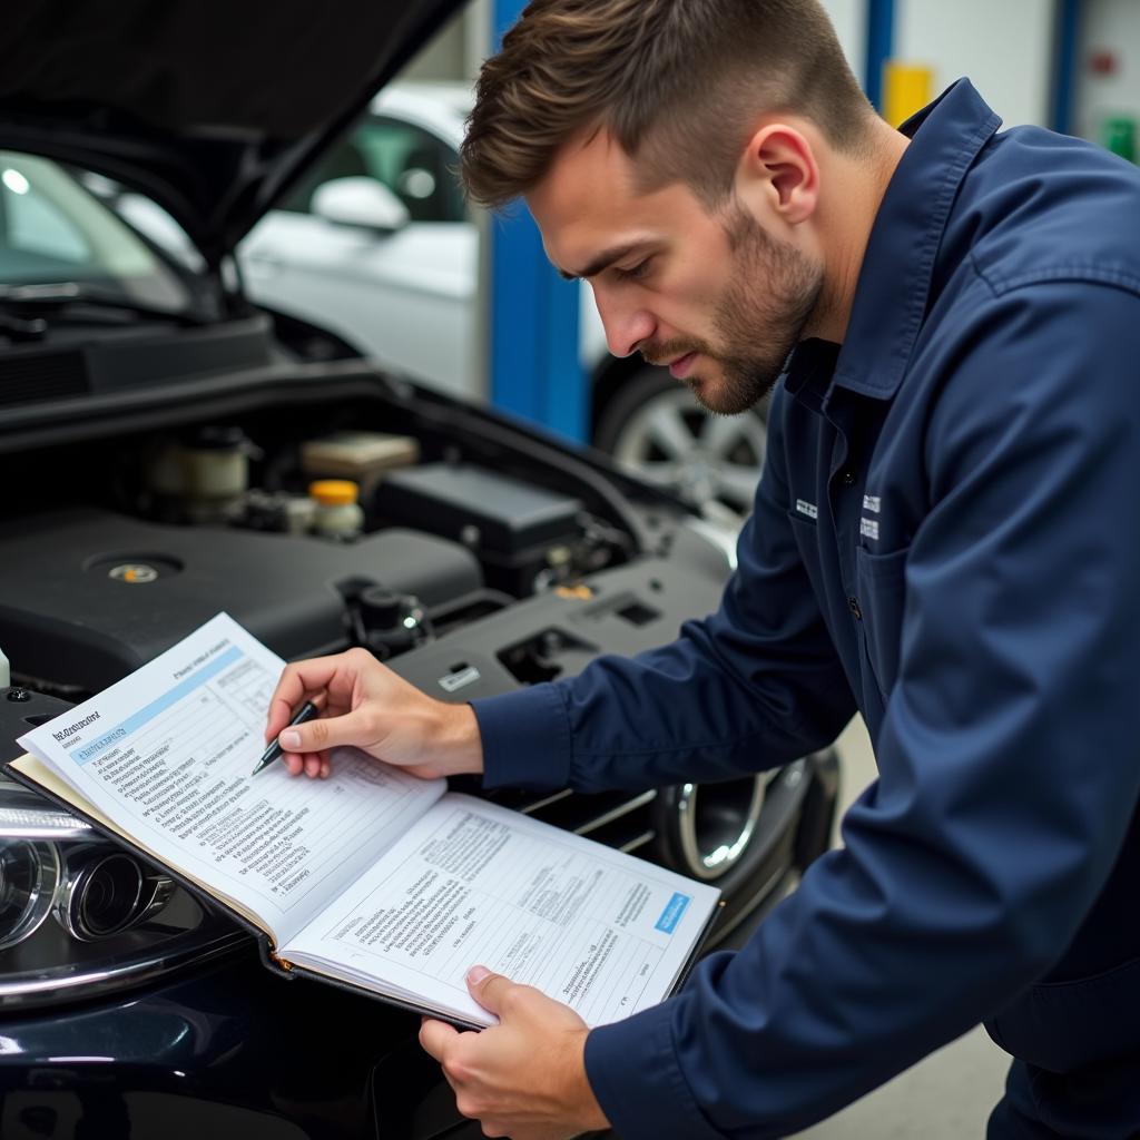
[[[287,727],[307,700],[320,717]],[[278,733],[293,775],[328,775],[328,750],[341,744],[424,779],[483,771],[471,707],[433,700],[363,649],[285,666],[269,702],[267,743]]]

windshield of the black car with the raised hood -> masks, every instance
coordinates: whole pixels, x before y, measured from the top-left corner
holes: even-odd
[[[0,150],[0,284],[97,283],[179,311],[185,286],[58,163]]]

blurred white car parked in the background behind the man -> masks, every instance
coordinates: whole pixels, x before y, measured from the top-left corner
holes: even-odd
[[[456,178],[470,107],[465,84],[384,90],[238,256],[259,303],[311,319],[453,396],[481,399],[479,226]],[[610,356],[583,287],[593,442],[712,521],[739,520],[764,462],[763,412],[711,416],[665,368]]]

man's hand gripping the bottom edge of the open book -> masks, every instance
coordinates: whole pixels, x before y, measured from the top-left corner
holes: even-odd
[[[420,1029],[464,1116],[478,1119],[486,1135],[512,1140],[565,1140],[609,1127],[586,1080],[589,1031],[569,1005],[481,966],[469,971],[467,988],[498,1015],[498,1025],[461,1033],[424,1019]]]

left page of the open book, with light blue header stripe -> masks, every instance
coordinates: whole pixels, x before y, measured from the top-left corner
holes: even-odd
[[[446,789],[355,749],[334,751],[327,780],[293,779],[280,762],[251,775],[283,666],[219,614],[19,741],[97,817],[278,945]]]

